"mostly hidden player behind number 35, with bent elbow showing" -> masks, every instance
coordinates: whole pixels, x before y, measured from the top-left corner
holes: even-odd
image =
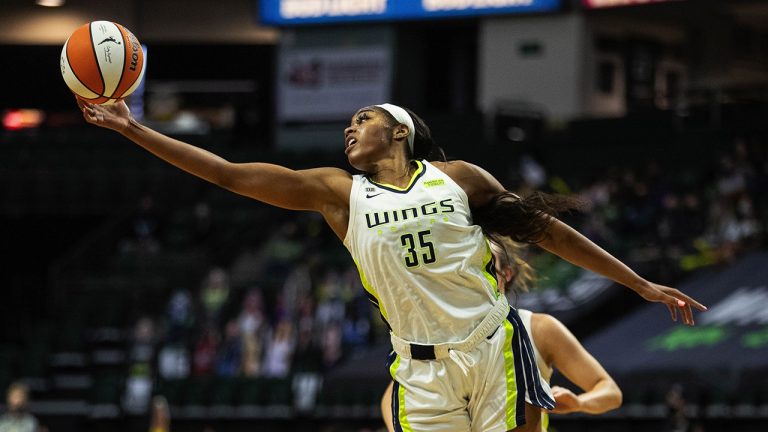
[[[532,270],[520,258],[515,245],[505,247],[492,241],[491,250],[499,291],[505,294],[507,288],[512,289],[513,282],[521,290],[527,290]],[[567,327],[551,315],[532,313],[525,309],[518,309],[517,312],[531,337],[541,377],[549,383],[556,367],[571,382],[585,390],[576,395],[564,387],[552,387],[555,408],[551,412],[602,414],[621,406],[619,386]],[[381,398],[381,413],[387,431],[394,432],[392,384],[387,386]],[[541,426],[542,431],[546,432],[549,426],[546,412],[542,415]]]

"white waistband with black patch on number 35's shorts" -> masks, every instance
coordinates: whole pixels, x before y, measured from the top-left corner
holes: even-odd
[[[480,321],[466,339],[458,342],[446,342],[434,345],[423,345],[409,342],[390,332],[392,349],[401,357],[414,360],[438,360],[451,356],[451,351],[470,352],[484,338],[491,335],[509,314],[509,303],[503,295],[499,296],[493,309]]]

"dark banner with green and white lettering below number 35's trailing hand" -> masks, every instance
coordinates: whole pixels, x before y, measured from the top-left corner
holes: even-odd
[[[768,370],[768,253],[755,253],[679,288],[705,304],[695,326],[674,323],[649,304],[585,342],[612,373],[680,371],[707,374]]]

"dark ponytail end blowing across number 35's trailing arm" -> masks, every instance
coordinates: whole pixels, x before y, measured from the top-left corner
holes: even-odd
[[[544,240],[557,216],[581,208],[580,200],[566,195],[534,192],[523,198],[504,191],[484,206],[473,208],[472,216],[486,235],[499,242],[501,236],[534,244]]]

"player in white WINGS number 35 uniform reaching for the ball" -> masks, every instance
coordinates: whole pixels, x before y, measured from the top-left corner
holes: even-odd
[[[231,163],[143,126],[123,102],[79,104],[89,123],[118,131],[202,179],[323,215],[391,329],[396,430],[539,431],[540,410],[554,408],[522,321],[490,274],[483,228],[537,243],[664,303],[673,319],[680,309],[686,324],[693,324],[692,306],[705,309],[677,289],[641,278],[550,216],[557,199],[520,199],[466,162],[428,162],[429,128],[396,105],[368,106],[352,117],[344,152],[363,174],[351,175]],[[483,228],[473,223],[473,210]]]

